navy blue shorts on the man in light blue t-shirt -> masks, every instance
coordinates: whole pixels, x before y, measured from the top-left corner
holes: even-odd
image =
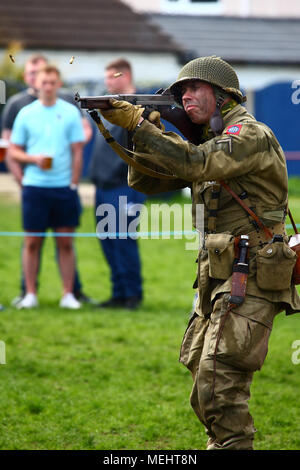
[[[23,227],[44,232],[47,228],[77,227],[81,212],[77,191],[23,186]]]

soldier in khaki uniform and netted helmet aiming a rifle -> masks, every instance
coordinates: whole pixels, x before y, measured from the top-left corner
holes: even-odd
[[[194,213],[196,204],[204,204],[198,301],[180,361],[193,376],[191,405],[206,428],[207,449],[253,449],[248,409],[253,373],[264,363],[274,317],[300,310],[291,281],[296,255],[285,231],[285,157],[272,131],[241,105],[238,77],[222,59],[190,61],[170,91],[199,125],[200,145],[164,132],[143,118],[143,109],[126,102],[113,101],[103,115],[134,131],[135,150],[143,153],[136,160],[175,175],[167,181],[131,167],[132,187],[153,194],[190,186]],[[237,266],[245,274],[238,278],[239,297],[232,282]]]

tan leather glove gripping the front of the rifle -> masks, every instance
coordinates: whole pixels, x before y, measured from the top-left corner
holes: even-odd
[[[99,109],[102,116],[111,124],[133,131],[139,123],[144,108],[127,101],[109,100],[111,109]]]

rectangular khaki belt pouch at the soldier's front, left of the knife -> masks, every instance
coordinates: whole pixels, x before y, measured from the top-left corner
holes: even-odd
[[[232,274],[234,261],[234,236],[228,233],[209,233],[205,238],[208,251],[209,276],[214,279],[228,279]]]

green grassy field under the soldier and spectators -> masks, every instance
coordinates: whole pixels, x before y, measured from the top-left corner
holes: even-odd
[[[300,199],[291,209],[300,221]],[[0,197],[0,230],[21,230],[20,210]],[[94,231],[85,208],[81,232]],[[189,405],[192,379],[178,363],[193,300],[195,252],[185,240],[140,240],[145,287],[134,312],[58,308],[61,294],[53,240],[46,239],[40,308],[10,307],[19,291],[17,237],[0,238],[0,449],[204,449],[206,435]],[[98,241],[76,240],[85,292],[110,295]],[[275,320],[269,354],[250,400],[256,449],[300,449],[300,316]]]

